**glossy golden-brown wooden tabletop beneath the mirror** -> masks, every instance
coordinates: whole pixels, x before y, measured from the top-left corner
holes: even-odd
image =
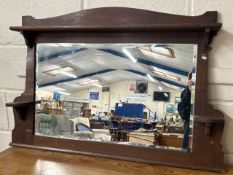
[[[219,175],[75,154],[9,148],[0,153],[0,175]],[[233,175],[227,166],[226,175]]]

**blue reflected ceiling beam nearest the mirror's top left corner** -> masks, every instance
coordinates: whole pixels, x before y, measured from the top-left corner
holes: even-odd
[[[71,54],[74,54],[74,53],[77,53],[77,52],[82,52],[82,51],[85,51],[85,50],[88,50],[88,49],[87,48],[76,48],[76,49],[64,50],[64,51],[57,52],[57,53],[54,53],[54,54],[51,54],[51,55],[48,55],[48,56],[39,57],[38,62],[52,60],[52,59],[58,58],[60,56],[71,55]]]

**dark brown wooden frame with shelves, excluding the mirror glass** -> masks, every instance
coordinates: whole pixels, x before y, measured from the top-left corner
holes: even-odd
[[[96,8],[63,16],[34,19],[23,16],[21,32],[27,44],[26,87],[7,106],[13,107],[15,128],[11,146],[78,153],[115,159],[222,172],[220,140],[223,114],[208,104],[208,51],[221,28],[217,12],[180,16],[132,8]],[[35,55],[37,43],[188,43],[198,45],[192,152],[35,135]]]

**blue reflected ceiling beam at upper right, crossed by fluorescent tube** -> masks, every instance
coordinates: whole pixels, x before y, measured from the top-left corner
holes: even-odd
[[[109,54],[112,54],[112,55],[115,55],[115,56],[118,56],[118,57],[122,57],[122,58],[125,58],[125,59],[129,59],[124,53],[121,53],[121,52],[118,52],[118,51],[115,51],[115,50],[112,50],[112,49],[97,49],[97,50],[100,50],[102,52],[106,52],[106,53],[109,53]],[[174,67],[170,67],[170,66],[159,64],[159,63],[155,63],[153,61],[144,60],[142,58],[136,58],[136,59],[137,59],[138,63],[145,64],[147,66],[154,66],[154,67],[157,67],[159,69],[163,69],[163,70],[173,72],[173,73],[176,73],[176,74],[179,74],[179,75],[188,76],[188,73],[189,73],[187,71],[183,71],[183,70],[180,70],[180,69],[177,69],[177,68],[174,68]]]

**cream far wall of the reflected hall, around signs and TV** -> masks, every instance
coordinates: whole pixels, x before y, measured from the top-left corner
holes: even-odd
[[[127,96],[132,94],[132,91],[129,91],[129,84],[134,83],[136,81],[120,81],[115,82],[109,85],[109,92],[102,92],[102,88],[91,88],[85,89],[77,93],[71,94],[71,96],[77,96],[78,98],[88,99],[90,96],[90,92],[99,92],[99,100],[91,100],[90,101],[90,109],[92,113],[96,112],[110,112],[111,109],[115,108],[116,103],[126,102]],[[146,102],[141,102],[146,105],[150,110],[156,112],[159,117],[164,117],[164,112],[166,111],[166,105],[174,104],[175,105],[175,97],[180,97],[180,91],[176,91],[170,88],[163,87],[163,91],[170,92],[170,100],[168,102],[155,102],[153,101],[153,93],[158,90],[158,85],[153,83],[148,83],[148,91],[146,95]],[[133,103],[133,102],[132,102]],[[95,106],[95,107],[93,107]]]

